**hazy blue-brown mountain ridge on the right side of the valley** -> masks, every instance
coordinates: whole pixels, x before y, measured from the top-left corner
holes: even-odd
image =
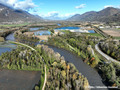
[[[67,20],[69,21],[101,21],[101,22],[118,22],[120,21],[120,9],[108,7],[99,12],[90,11],[84,14],[76,14]]]

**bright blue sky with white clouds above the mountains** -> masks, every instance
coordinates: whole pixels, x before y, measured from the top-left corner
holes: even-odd
[[[0,3],[48,19],[66,19],[106,7],[120,8],[120,0],[0,0]]]

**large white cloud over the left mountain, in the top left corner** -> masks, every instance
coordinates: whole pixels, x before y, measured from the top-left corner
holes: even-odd
[[[0,3],[13,7],[15,9],[22,9],[22,10],[30,10],[36,5],[32,2],[32,0],[24,0],[24,1],[19,1],[19,0],[0,0]]]

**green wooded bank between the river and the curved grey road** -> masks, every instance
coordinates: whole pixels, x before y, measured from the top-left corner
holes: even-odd
[[[95,44],[97,44],[100,39],[100,37],[98,38],[95,36],[67,33],[64,35],[58,35],[49,38],[48,42],[46,42],[45,44],[54,45],[59,48],[64,48],[73,53],[76,53],[83,59],[85,63],[98,70],[103,78],[103,81],[107,83],[108,86],[119,86],[120,77],[117,73],[119,72],[119,65],[116,65],[115,63],[107,63],[107,60],[100,56],[99,53],[96,53],[96,51],[94,50]],[[109,45],[112,46],[111,44]],[[115,51],[115,47],[113,48],[111,48],[111,50]],[[93,51],[95,53],[93,53]],[[116,50],[116,52],[118,51],[119,50]],[[108,51],[108,53],[110,54],[110,51]],[[116,55],[117,53],[113,53],[113,55],[114,54]]]

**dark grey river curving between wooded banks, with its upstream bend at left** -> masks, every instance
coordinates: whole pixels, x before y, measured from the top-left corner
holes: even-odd
[[[6,40],[14,40],[14,35],[13,34],[8,35],[6,37]],[[62,56],[64,56],[66,61],[73,63],[76,66],[76,68],[79,70],[79,72],[82,73],[82,75],[84,75],[85,77],[87,77],[91,86],[105,86],[102,83],[102,78],[100,77],[98,72],[95,69],[91,68],[86,63],[84,63],[80,59],[80,57],[64,49],[60,49],[60,48],[53,47],[53,46],[49,46],[49,48],[52,48],[55,52],[58,52]],[[96,90],[96,88],[94,90]],[[97,90],[103,90],[103,89],[97,89]],[[104,89],[104,90],[107,90],[107,89]]]

